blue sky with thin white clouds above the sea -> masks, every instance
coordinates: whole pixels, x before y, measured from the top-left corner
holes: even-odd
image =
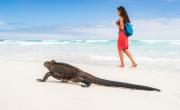
[[[132,40],[180,40],[180,0],[0,0],[0,39],[116,40],[117,7]]]

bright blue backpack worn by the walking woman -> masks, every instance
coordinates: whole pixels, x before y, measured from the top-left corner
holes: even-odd
[[[120,22],[118,22],[118,24],[120,25]],[[126,30],[124,30],[124,33],[126,34],[127,37],[129,37],[133,34],[133,28],[132,28],[133,25],[131,23],[125,22],[125,26],[126,26]],[[119,30],[119,32],[120,32],[120,30]],[[118,34],[119,34],[119,32],[118,32]]]

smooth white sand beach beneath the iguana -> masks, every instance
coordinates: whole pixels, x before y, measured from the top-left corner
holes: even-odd
[[[180,75],[137,69],[72,64],[100,78],[152,86],[143,91],[92,84],[62,83],[50,77],[43,62],[0,60],[0,110],[180,110]]]

